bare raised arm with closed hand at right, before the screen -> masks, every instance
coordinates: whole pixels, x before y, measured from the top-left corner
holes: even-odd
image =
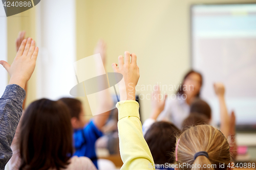
[[[221,132],[228,137],[229,134],[229,115],[227,112],[227,107],[225,103],[225,87],[222,83],[215,83],[214,84],[215,93],[218,96],[219,104],[220,104],[220,118],[221,118],[221,125],[220,130]]]

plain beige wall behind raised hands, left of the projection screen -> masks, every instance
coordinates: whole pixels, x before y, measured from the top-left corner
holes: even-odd
[[[139,85],[178,85],[190,67],[189,7],[195,3],[245,1],[77,0],[78,59],[92,55],[97,40],[103,38],[108,43],[108,71],[113,71],[111,64],[118,62],[119,55],[130,51],[138,57]],[[141,101],[140,107],[145,120],[150,101]]]

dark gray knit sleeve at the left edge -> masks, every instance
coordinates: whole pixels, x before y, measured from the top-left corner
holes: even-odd
[[[0,169],[5,169],[6,163],[12,157],[11,143],[22,115],[22,104],[26,91],[16,85],[6,86],[0,99]]]

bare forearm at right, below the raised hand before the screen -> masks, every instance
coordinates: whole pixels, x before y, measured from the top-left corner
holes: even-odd
[[[225,103],[224,96],[219,96],[219,103],[220,103],[220,130],[221,132],[228,137],[229,135],[229,116],[227,112],[227,107]]]

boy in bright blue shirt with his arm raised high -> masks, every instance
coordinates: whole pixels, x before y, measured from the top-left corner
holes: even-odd
[[[98,53],[100,53],[103,65],[105,65],[106,44],[102,40],[100,40],[95,47],[94,54]],[[97,71],[102,71],[100,66],[101,65],[99,63]],[[103,83],[100,85],[104,86]],[[99,100],[99,106],[110,108],[109,110],[111,111],[113,106],[111,95],[107,90],[105,90],[104,95],[106,97],[105,99],[109,100]],[[102,99],[102,96],[99,99]],[[106,120],[109,118],[110,111],[93,116],[93,118],[87,123],[86,114],[83,110],[82,103],[79,100],[72,98],[61,98],[59,101],[65,103],[70,110],[71,124],[74,129],[74,155],[89,157],[93,161],[94,165],[98,168],[95,142],[103,135],[102,128],[105,125]]]

